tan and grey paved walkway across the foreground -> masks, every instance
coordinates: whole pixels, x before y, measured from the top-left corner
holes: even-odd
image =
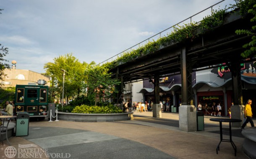
[[[248,159],[242,152],[240,129],[232,128],[237,156],[228,142],[222,142],[216,154],[219,123],[209,121],[213,116],[205,116],[205,130],[196,132],[180,131],[178,117],[162,113],[161,119],[155,119],[152,112],[143,112],[134,113],[129,121],[31,121],[29,136],[13,136],[9,141],[16,149],[14,159]],[[0,157],[11,157],[9,148],[4,141]]]

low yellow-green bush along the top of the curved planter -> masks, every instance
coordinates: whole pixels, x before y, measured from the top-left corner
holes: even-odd
[[[83,114],[110,114],[110,113],[122,113],[123,111],[117,106],[76,106],[71,113],[83,113]]]

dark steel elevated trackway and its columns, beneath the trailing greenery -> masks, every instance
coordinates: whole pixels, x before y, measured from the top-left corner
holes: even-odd
[[[133,61],[123,63],[114,69],[115,77],[120,76],[123,82],[154,79],[155,102],[159,103],[159,78],[181,74],[182,84],[182,111],[179,111],[180,129],[196,131],[195,122],[190,124],[196,116],[194,96],[192,90],[192,73],[204,69],[219,67],[219,64],[228,66],[232,73],[233,118],[241,119],[241,105],[243,103],[240,63],[253,61],[253,58],[244,59],[242,45],[251,40],[250,36],[237,35],[237,29],[251,29],[250,18],[242,18],[238,12],[227,13],[225,23],[214,28],[213,31],[200,34],[197,38],[162,46],[154,53],[141,56]],[[240,123],[239,123],[240,124]],[[239,125],[237,125],[239,126]]]

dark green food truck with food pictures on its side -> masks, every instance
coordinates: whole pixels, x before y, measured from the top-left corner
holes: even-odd
[[[26,111],[30,117],[47,116],[48,86],[44,86],[44,80],[38,80],[37,84],[16,85],[14,115]]]

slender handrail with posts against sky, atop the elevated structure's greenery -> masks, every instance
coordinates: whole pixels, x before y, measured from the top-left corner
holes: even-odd
[[[122,52],[120,52],[120,53],[118,53],[118,54],[112,56],[111,58],[108,58],[107,60],[105,60],[105,61],[103,61],[103,62],[101,62],[101,63],[99,63],[99,64],[97,64],[97,65],[103,64],[103,63],[105,63],[105,62],[107,62],[107,61],[109,61],[109,60],[113,61],[113,58],[115,58],[115,57],[118,58],[118,56],[119,56],[120,54],[122,54],[122,53],[125,53],[125,51],[127,51],[127,50],[132,50],[132,48],[134,48],[135,46],[138,46],[138,47],[139,47],[139,45],[140,45],[141,43],[144,43],[145,41],[150,40],[150,39],[154,38],[154,37],[157,36],[157,35],[159,35],[159,38],[161,38],[161,33],[165,32],[166,30],[169,30],[169,29],[171,29],[171,28],[174,28],[175,26],[179,25],[180,23],[185,22],[185,21],[188,20],[188,19],[190,19],[190,23],[192,23],[192,18],[193,18],[193,17],[195,17],[196,15],[199,15],[200,13],[202,13],[202,12],[208,10],[209,8],[211,8],[211,13],[212,13],[212,8],[213,8],[215,5],[218,5],[219,3],[222,3],[223,1],[225,1],[225,0],[221,0],[221,1],[218,2],[218,3],[212,5],[212,6],[206,8],[206,9],[204,9],[204,10],[201,10],[200,12],[198,12],[198,13],[192,15],[191,17],[186,18],[185,20],[182,20],[182,21],[180,21],[179,23],[177,23],[177,24],[175,24],[175,25],[172,25],[171,27],[169,27],[169,28],[167,28],[167,29],[165,29],[165,30],[162,30],[161,32],[159,32],[159,33],[157,33],[157,34],[155,34],[155,35],[153,35],[153,36],[147,38],[146,40],[141,41],[140,43],[137,43],[136,45],[131,46],[130,48],[128,48],[128,49],[126,49],[126,50],[123,50]],[[227,10],[228,10],[228,9],[230,9],[230,8],[227,8]]]

